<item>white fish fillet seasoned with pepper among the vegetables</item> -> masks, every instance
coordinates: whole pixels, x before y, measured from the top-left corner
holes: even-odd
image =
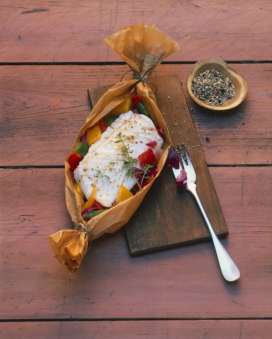
[[[122,139],[128,138],[125,145],[133,152],[130,153],[133,158],[138,158],[141,153],[152,148],[146,146],[150,141],[156,141],[157,147],[162,147],[163,144],[153,121],[132,111],[121,114],[107,127],[101,138],[90,146],[74,172],[75,181],[80,185],[85,197],[89,199],[93,187],[96,186],[96,200],[105,207],[114,203],[120,185],[130,191],[136,183],[131,176],[126,175],[128,166],[123,164],[126,158],[120,151],[122,143],[115,143],[120,132]],[[104,173],[109,178],[101,177],[97,171],[103,173],[110,161],[114,162],[114,166],[110,166]],[[132,166],[141,168],[139,162],[134,162]]]

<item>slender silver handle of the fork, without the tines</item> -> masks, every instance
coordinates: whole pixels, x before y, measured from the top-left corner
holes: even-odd
[[[224,276],[224,278],[228,281],[234,281],[240,278],[240,272],[238,270],[238,267],[236,266],[236,264],[233,262],[233,260],[230,258],[229,254],[227,253],[227,251],[225,250],[225,248],[223,247],[223,245],[221,244],[221,241],[218,239],[218,236],[216,235],[211,223],[209,222],[209,219],[206,215],[206,212],[201,204],[201,201],[196,193],[196,185],[194,183],[190,183],[186,185],[186,189],[188,191],[190,191],[198,205],[200,208],[200,211],[206,221],[206,224],[208,226],[209,232],[212,236],[213,242],[214,242],[214,246],[215,246],[215,250],[216,250],[216,254],[217,254],[217,258],[219,261],[219,265],[222,271],[222,274]]]

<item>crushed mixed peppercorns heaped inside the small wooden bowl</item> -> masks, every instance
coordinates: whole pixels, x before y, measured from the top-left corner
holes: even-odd
[[[235,97],[234,86],[229,78],[216,69],[205,71],[192,81],[193,94],[207,104],[218,106]]]

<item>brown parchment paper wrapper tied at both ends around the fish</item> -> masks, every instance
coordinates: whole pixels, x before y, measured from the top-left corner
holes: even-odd
[[[131,69],[138,71],[144,81],[148,80],[153,69],[164,58],[179,49],[178,44],[159,31],[154,24],[144,23],[122,27],[117,33],[106,38],[105,42],[125,60]],[[75,152],[80,137],[93,128],[100,119],[108,115],[115,106],[127,98],[140,94],[141,102],[151,119],[157,125],[162,125],[165,134],[164,152],[157,164],[157,176],[160,174],[168,156],[171,139],[167,125],[156,105],[154,93],[146,83],[136,79],[134,73],[132,78],[118,82],[98,100],[85,124],[79,130],[75,143],[65,159],[65,198],[68,212],[74,226],[77,227],[79,223],[82,223],[88,233],[78,230],[63,230],[48,236],[47,240],[54,258],[71,273],[78,270],[82,257],[86,253],[88,241],[98,238],[104,233],[113,233],[122,227],[137,210],[155,181],[153,180],[135,196],[120,202],[88,222],[84,221],[81,217],[84,201],[74,188],[73,173],[67,162],[69,156]]]

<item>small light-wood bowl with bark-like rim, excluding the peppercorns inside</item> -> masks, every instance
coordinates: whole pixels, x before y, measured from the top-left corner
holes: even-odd
[[[225,104],[218,106],[209,105],[204,100],[198,99],[192,92],[191,84],[192,81],[197,78],[200,73],[205,72],[206,69],[209,71],[216,69],[223,75],[224,78],[230,78],[234,86],[235,97],[228,99]],[[190,97],[200,106],[213,109],[214,111],[224,111],[225,109],[231,109],[238,106],[245,99],[247,94],[247,84],[245,79],[239,73],[234,71],[233,68],[229,67],[227,63],[220,59],[208,58],[198,61],[191,69],[187,78],[187,91]]]

